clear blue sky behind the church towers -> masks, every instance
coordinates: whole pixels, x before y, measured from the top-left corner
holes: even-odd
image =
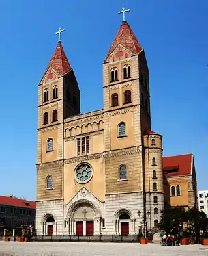
[[[81,110],[102,108],[102,62],[121,25],[145,49],[152,129],[164,156],[194,153],[198,189],[208,189],[208,1],[3,1],[1,3],[0,194],[35,199],[38,83],[65,29],[63,47],[81,90]]]

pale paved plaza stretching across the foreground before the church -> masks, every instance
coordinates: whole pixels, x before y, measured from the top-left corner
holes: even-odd
[[[203,256],[208,246],[160,246],[138,243],[86,243],[86,242],[0,242],[0,256]]]

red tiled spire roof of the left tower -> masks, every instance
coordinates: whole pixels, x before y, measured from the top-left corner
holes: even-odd
[[[55,49],[55,52],[53,53],[53,56],[48,64],[48,67],[49,66],[54,68],[61,75],[65,75],[72,69],[68,58],[65,55],[61,42],[58,42],[57,48]]]

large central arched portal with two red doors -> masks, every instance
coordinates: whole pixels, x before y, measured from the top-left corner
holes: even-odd
[[[76,201],[68,209],[68,232],[72,235],[100,234],[100,210],[88,200]]]

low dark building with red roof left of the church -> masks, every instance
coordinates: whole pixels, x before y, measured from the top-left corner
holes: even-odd
[[[18,229],[22,225],[35,225],[36,203],[12,196],[0,196],[0,235],[3,230]]]

